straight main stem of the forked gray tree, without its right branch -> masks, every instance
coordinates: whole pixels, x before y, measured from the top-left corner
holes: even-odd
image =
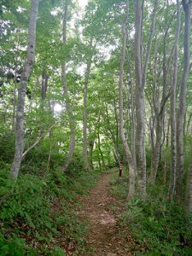
[[[144,87],[142,81],[141,55],[141,17],[142,9],[139,0],[135,1],[135,73],[136,73],[136,161],[137,161],[137,190],[143,200],[146,197],[146,163],[144,150]]]

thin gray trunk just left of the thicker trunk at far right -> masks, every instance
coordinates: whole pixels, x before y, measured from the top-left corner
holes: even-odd
[[[176,144],[176,88],[177,88],[177,69],[178,69],[178,41],[181,26],[180,1],[177,0],[177,32],[173,57],[172,84],[171,84],[171,150],[172,150],[172,166],[170,172],[169,183],[169,200],[172,201],[175,192],[176,172],[177,172],[177,144]]]

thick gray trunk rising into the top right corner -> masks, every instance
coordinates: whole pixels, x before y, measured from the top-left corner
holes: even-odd
[[[184,67],[183,77],[180,84],[179,108],[177,111],[177,182],[176,182],[176,195],[177,198],[182,198],[182,182],[183,182],[183,121],[186,107],[186,90],[187,80],[189,77],[189,45],[190,45],[190,26],[191,26],[191,7],[192,2],[183,0],[183,10],[185,15],[184,20]]]

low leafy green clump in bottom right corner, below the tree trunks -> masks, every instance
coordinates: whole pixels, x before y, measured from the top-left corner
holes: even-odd
[[[148,247],[146,255],[190,255],[184,253],[192,247],[191,218],[183,218],[182,207],[160,200],[133,200],[126,207],[122,224]]]

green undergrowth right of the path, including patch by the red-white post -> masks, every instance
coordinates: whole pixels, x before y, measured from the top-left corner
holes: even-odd
[[[176,203],[170,204],[164,189],[163,186],[150,187],[145,202],[137,198],[123,201],[125,207],[119,229],[124,241],[131,234],[139,243],[137,251],[132,247],[136,255],[192,255],[192,216],[186,216],[183,207]],[[127,173],[113,177],[111,193],[125,199],[127,191]]]

